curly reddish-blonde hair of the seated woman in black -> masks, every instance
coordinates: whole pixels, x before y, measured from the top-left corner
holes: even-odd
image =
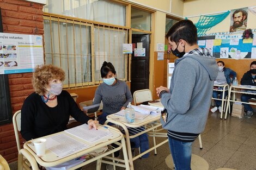
[[[45,87],[52,79],[65,80],[65,72],[62,68],[53,65],[37,65],[33,73],[33,87],[35,93],[42,96],[46,92]]]

